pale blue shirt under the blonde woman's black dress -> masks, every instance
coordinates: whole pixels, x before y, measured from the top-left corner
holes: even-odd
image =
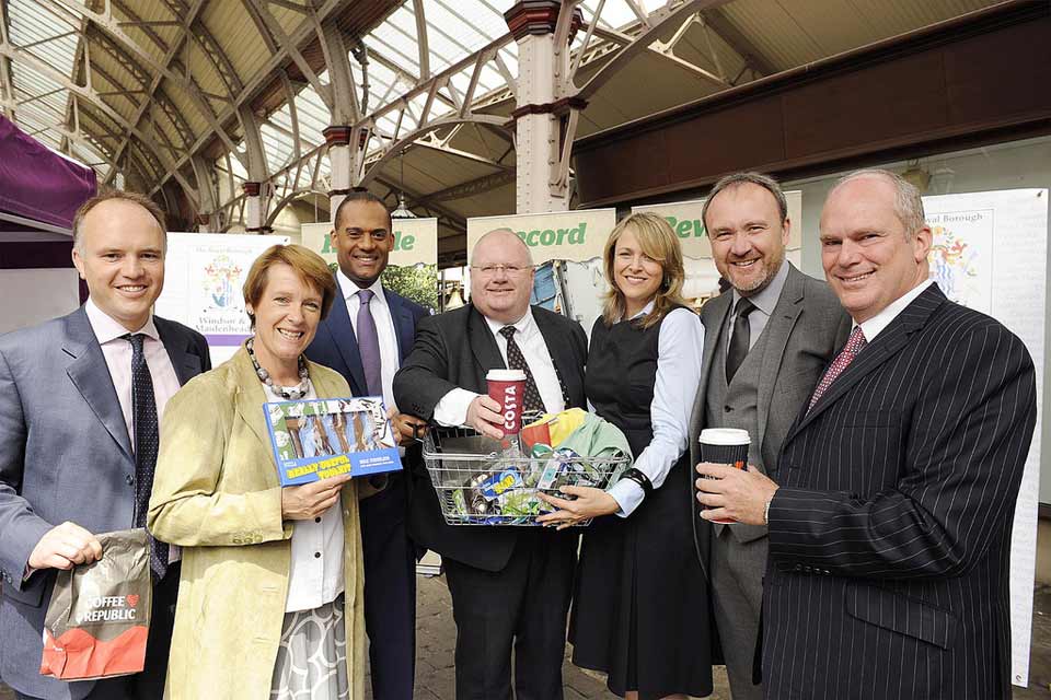
[[[650,302],[632,318],[654,310]],[[659,489],[671,467],[686,451],[690,434],[690,412],[701,382],[701,357],[704,351],[704,326],[701,317],[689,308],[674,308],[660,324],[657,337],[657,378],[654,400],[649,405],[649,420],[654,438],[635,459],[635,468],[649,477]],[[631,479],[621,479],[607,492],[627,517],[643,502],[643,487]]]

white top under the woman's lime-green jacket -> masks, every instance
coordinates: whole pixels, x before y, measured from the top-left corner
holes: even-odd
[[[266,400],[288,400],[266,388]],[[314,385],[304,399],[317,398]],[[343,509],[337,501],[321,517],[292,523],[292,560],[285,611],[313,610],[343,593]]]

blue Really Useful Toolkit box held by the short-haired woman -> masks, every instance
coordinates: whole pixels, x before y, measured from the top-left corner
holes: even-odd
[[[402,468],[394,431],[378,396],[275,401],[264,404],[263,412],[281,486]]]

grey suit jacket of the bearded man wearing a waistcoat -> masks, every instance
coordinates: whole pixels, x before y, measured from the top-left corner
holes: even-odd
[[[828,284],[804,275],[790,262],[785,264],[788,265],[788,277],[763,331],[769,334],[769,338],[762,358],[757,397],[759,434],[752,435],[752,440],[760,445],[763,464],[769,474],[776,472],[781,443],[788,434],[799,410],[809,400],[824,368],[846,343],[852,325],[851,317],[843,311]],[[697,387],[697,397],[690,419],[690,460],[693,465],[701,462],[697,439],[701,430],[705,428],[704,408],[708,377],[713,372],[712,359],[715,357],[716,343],[727,340],[723,329],[732,303],[734,293],[727,291],[701,310],[701,322],[704,324],[704,359],[701,385]],[[723,368],[718,368],[718,371],[723,371]],[[706,521],[701,518],[694,521],[698,549],[703,550],[698,553],[703,553],[706,552],[704,545],[708,537],[708,526]],[[762,525],[730,527],[739,541],[747,542],[766,535],[766,528]],[[702,539],[705,542],[702,542]]]

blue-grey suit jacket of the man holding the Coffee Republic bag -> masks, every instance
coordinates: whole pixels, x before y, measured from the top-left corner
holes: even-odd
[[[154,317],[180,384],[211,369],[204,336]],[[41,676],[55,582],[23,582],[30,553],[72,521],[103,533],[134,525],[135,458],[102,348],[83,307],[0,336],[0,677],[38,698],[82,698],[93,681]]]

